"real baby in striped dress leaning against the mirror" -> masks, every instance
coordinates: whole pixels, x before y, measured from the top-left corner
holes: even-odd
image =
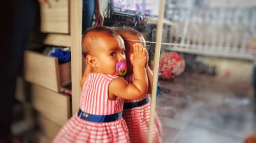
[[[122,38],[111,28],[95,26],[82,40],[89,74],[82,78],[80,109],[60,130],[53,142],[130,142],[122,118],[124,99],[141,99],[147,93],[145,49],[135,45],[130,57],[134,81],[120,77],[118,64],[125,65]]]

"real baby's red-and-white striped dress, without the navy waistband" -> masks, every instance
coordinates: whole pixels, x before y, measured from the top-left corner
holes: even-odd
[[[119,76],[90,73],[83,84],[80,110],[91,115],[112,115],[123,110],[124,100],[109,100],[109,83]],[[90,116],[90,115],[89,115]],[[113,122],[90,122],[75,114],[53,142],[130,142],[123,118]]]

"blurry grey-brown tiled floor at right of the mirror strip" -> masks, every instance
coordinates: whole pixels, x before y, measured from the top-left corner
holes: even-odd
[[[223,83],[215,76],[183,73],[159,80],[170,90],[157,97],[156,111],[163,142],[236,143],[256,131],[253,89],[239,82]]]

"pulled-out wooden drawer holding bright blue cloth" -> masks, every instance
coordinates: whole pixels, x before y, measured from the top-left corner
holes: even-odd
[[[25,51],[24,75],[29,82],[55,92],[60,85],[71,82],[71,62],[58,65],[58,59],[35,51]]]

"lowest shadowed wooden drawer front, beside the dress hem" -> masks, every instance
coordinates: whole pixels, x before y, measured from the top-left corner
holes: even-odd
[[[41,115],[38,115],[37,119],[40,130],[51,140],[58,134],[61,129],[61,126],[51,122]]]

